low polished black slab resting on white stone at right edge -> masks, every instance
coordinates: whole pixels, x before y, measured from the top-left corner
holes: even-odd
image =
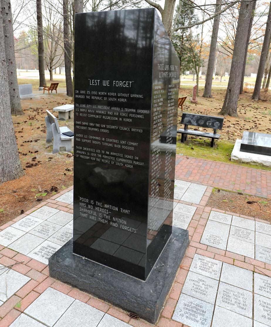
[[[240,151],[271,156],[271,135],[244,131]]]

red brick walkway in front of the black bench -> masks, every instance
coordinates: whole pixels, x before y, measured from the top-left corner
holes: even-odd
[[[271,171],[176,156],[175,178],[271,198]]]

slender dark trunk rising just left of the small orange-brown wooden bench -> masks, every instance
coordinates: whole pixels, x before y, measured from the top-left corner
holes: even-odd
[[[37,1],[37,25],[38,25],[38,55],[39,55],[39,74],[40,74],[40,88],[46,85],[44,73],[44,45],[43,45],[43,28],[42,28],[42,0]]]

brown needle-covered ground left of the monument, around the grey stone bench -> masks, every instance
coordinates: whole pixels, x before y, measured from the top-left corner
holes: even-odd
[[[53,112],[54,107],[67,103],[71,98],[63,93],[22,100],[25,114],[13,117],[13,123],[25,176],[0,185],[0,225],[34,207],[37,199],[50,198],[56,191],[50,192],[52,186],[62,191],[73,185],[73,154],[52,154],[44,121],[45,109]],[[73,130],[73,120],[59,121],[59,125]]]

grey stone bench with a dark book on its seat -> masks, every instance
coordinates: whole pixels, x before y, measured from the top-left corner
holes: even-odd
[[[59,127],[57,118],[48,110],[46,110],[47,116],[45,117],[45,123],[47,128],[46,142],[51,143],[53,141],[53,153],[59,152],[60,146],[64,146],[67,152],[72,151],[72,142],[74,136],[66,136],[62,133],[71,132],[67,126]]]

